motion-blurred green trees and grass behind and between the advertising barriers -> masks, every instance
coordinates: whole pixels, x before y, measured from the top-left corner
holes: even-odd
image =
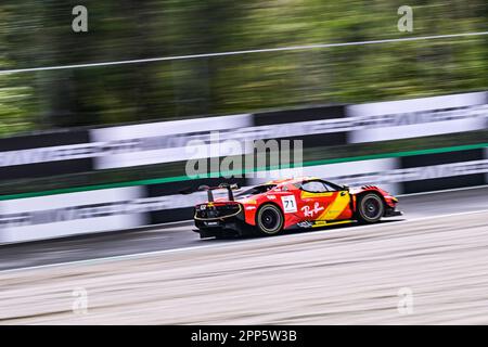
[[[72,10],[88,9],[88,33]],[[400,33],[397,10],[413,9]],[[485,0],[4,0],[0,69],[487,30]],[[488,36],[0,75],[0,137],[266,110],[412,99],[488,87]],[[297,119],[299,120],[299,119]],[[305,159],[485,141],[487,131],[307,150]],[[183,172],[182,163],[55,179],[12,179],[0,193]]]

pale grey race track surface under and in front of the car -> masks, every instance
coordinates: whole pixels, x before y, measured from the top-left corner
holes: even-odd
[[[487,193],[404,196],[404,218],[267,239],[180,226],[2,246],[0,323],[487,324]]]

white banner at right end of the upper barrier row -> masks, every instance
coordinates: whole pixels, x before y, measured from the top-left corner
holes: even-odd
[[[427,137],[487,128],[485,92],[350,105],[349,143]]]

